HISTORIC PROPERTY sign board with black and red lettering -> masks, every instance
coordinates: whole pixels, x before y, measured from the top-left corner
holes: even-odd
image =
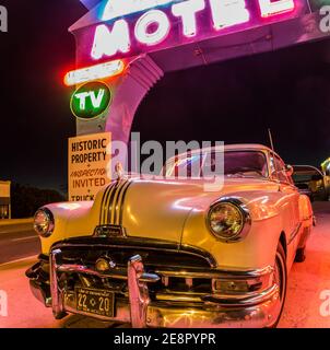
[[[99,189],[110,182],[111,135],[87,135],[69,139],[69,201],[95,200]]]

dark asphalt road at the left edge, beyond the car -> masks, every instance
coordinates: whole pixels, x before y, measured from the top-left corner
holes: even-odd
[[[32,224],[0,226],[0,265],[40,252],[40,243]]]

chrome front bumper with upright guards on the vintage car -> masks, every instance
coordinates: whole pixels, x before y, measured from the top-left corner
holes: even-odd
[[[128,261],[126,276],[129,288],[128,300],[116,302],[115,317],[91,315],[76,310],[73,292],[59,288],[58,272],[73,270],[81,273],[97,275],[98,272],[85,269],[83,266],[61,265],[60,254],[60,249],[56,249],[50,255],[50,281],[43,280],[39,273],[42,269],[39,262],[26,272],[33,294],[45,306],[52,307],[56,318],[62,318],[67,313],[72,313],[107,322],[130,323],[134,328],[261,328],[272,326],[276,322],[282,306],[276,284],[272,284],[262,292],[245,295],[207,295],[198,303],[179,299],[152,301],[148,283],[158,277],[145,273],[142,258],[134,256]],[[246,273],[247,277],[257,276],[264,273],[264,270],[243,273]],[[234,277],[237,278],[237,275],[235,272]]]

